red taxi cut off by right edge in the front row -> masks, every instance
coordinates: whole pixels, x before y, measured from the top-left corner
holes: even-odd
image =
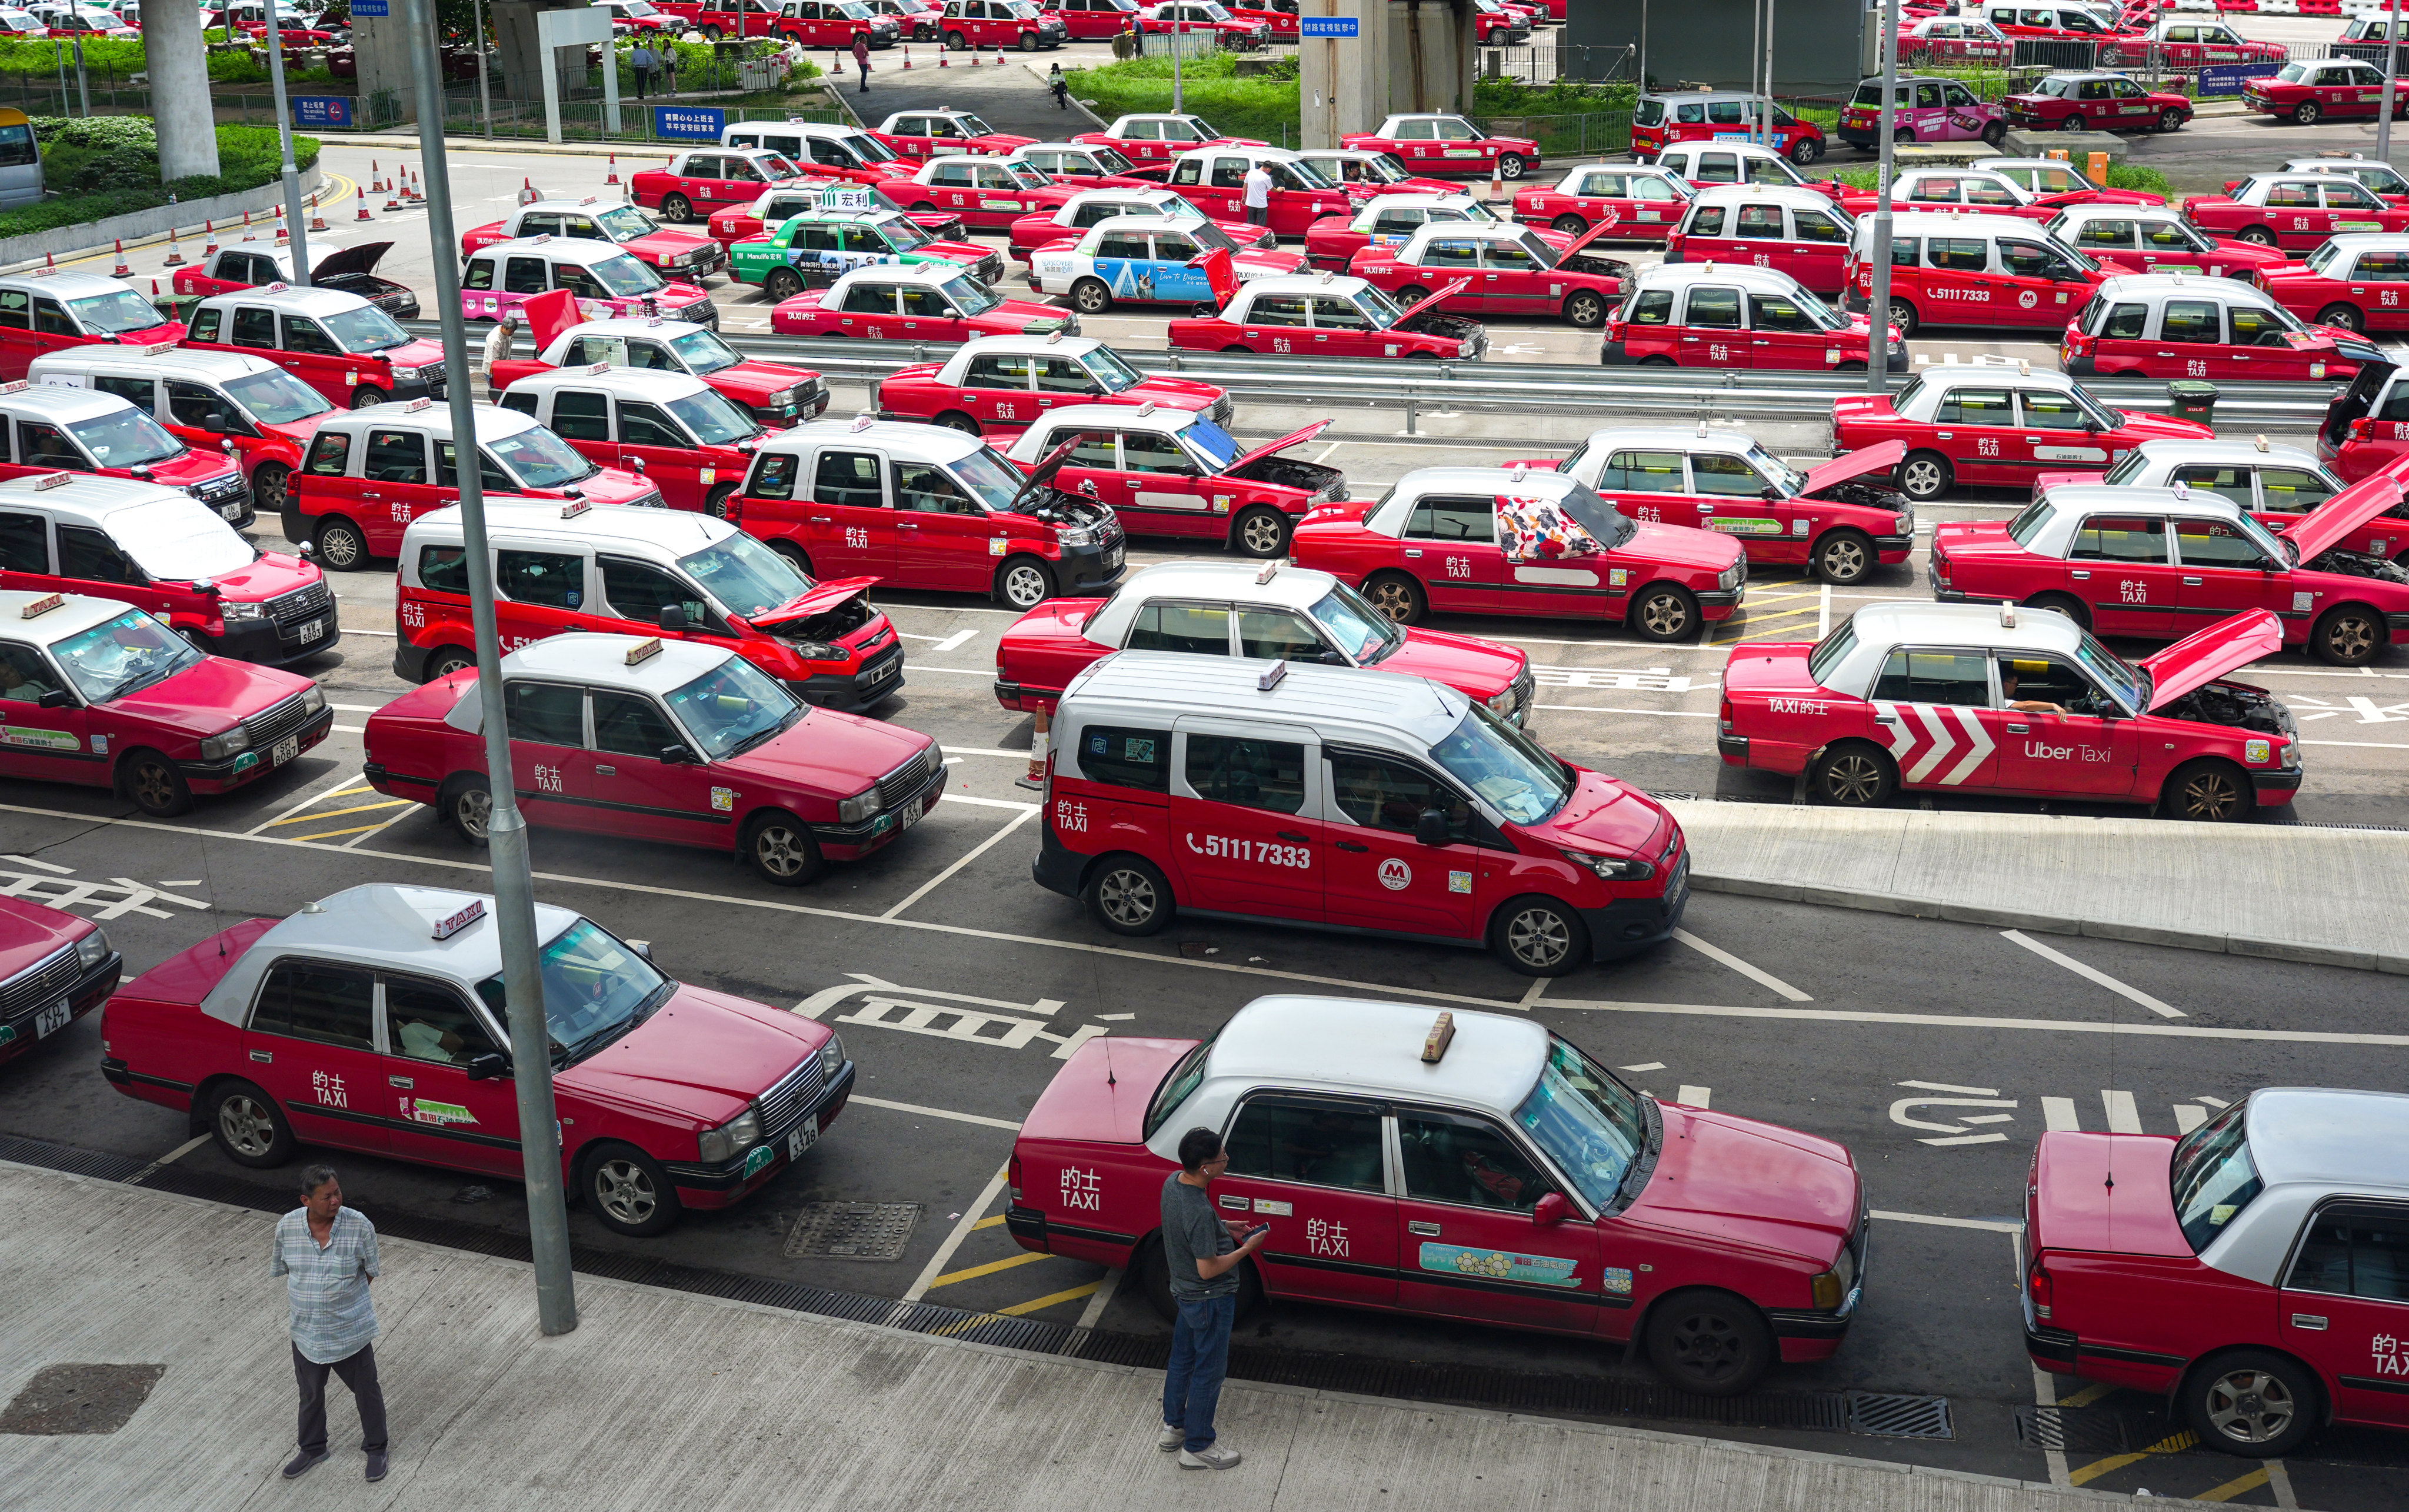
[[[2202,1445],[2260,1461],[2327,1425],[2409,1428],[2402,1136],[2409,1098],[2308,1086],[2260,1088],[2183,1139],[2043,1134],[2024,1192],[2033,1368],[2163,1396]]]

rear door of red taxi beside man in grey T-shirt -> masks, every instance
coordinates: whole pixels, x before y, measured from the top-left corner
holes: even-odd
[[[1253,1093],[1231,1120],[1214,1216],[1270,1223],[1255,1274],[1282,1298],[1392,1307],[1397,1199],[1388,1194],[1378,1103]]]

